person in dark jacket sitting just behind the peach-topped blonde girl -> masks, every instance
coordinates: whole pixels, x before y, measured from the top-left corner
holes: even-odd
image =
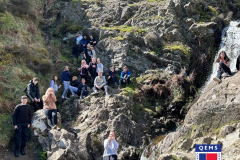
[[[43,108],[43,101],[40,99],[40,92],[38,86],[38,78],[33,78],[29,81],[26,89],[27,97],[31,100],[34,112],[37,111],[37,104],[39,109]]]

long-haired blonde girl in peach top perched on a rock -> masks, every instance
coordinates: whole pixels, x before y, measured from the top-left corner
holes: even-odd
[[[47,117],[47,123],[51,129],[60,130],[57,126],[57,107],[55,102],[57,101],[56,96],[54,95],[54,89],[48,88],[45,95],[42,97],[44,103],[44,113]],[[52,124],[52,117],[54,121],[54,125]]]

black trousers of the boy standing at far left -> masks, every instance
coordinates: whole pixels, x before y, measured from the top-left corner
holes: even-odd
[[[15,129],[14,144],[15,150],[19,150],[20,140],[21,140],[21,149],[26,147],[26,143],[29,135],[28,123],[17,123],[18,129]]]

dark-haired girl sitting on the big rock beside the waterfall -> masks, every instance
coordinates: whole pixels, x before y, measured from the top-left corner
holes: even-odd
[[[232,72],[230,70],[230,59],[228,58],[227,54],[225,51],[221,51],[217,60],[217,77],[213,78],[214,81],[220,83],[221,82],[221,77],[223,73],[225,73],[224,76],[231,76]]]

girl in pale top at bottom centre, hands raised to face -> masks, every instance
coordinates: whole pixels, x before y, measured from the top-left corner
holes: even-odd
[[[115,132],[111,131],[107,139],[104,140],[103,160],[117,160],[118,142],[115,138]]]

